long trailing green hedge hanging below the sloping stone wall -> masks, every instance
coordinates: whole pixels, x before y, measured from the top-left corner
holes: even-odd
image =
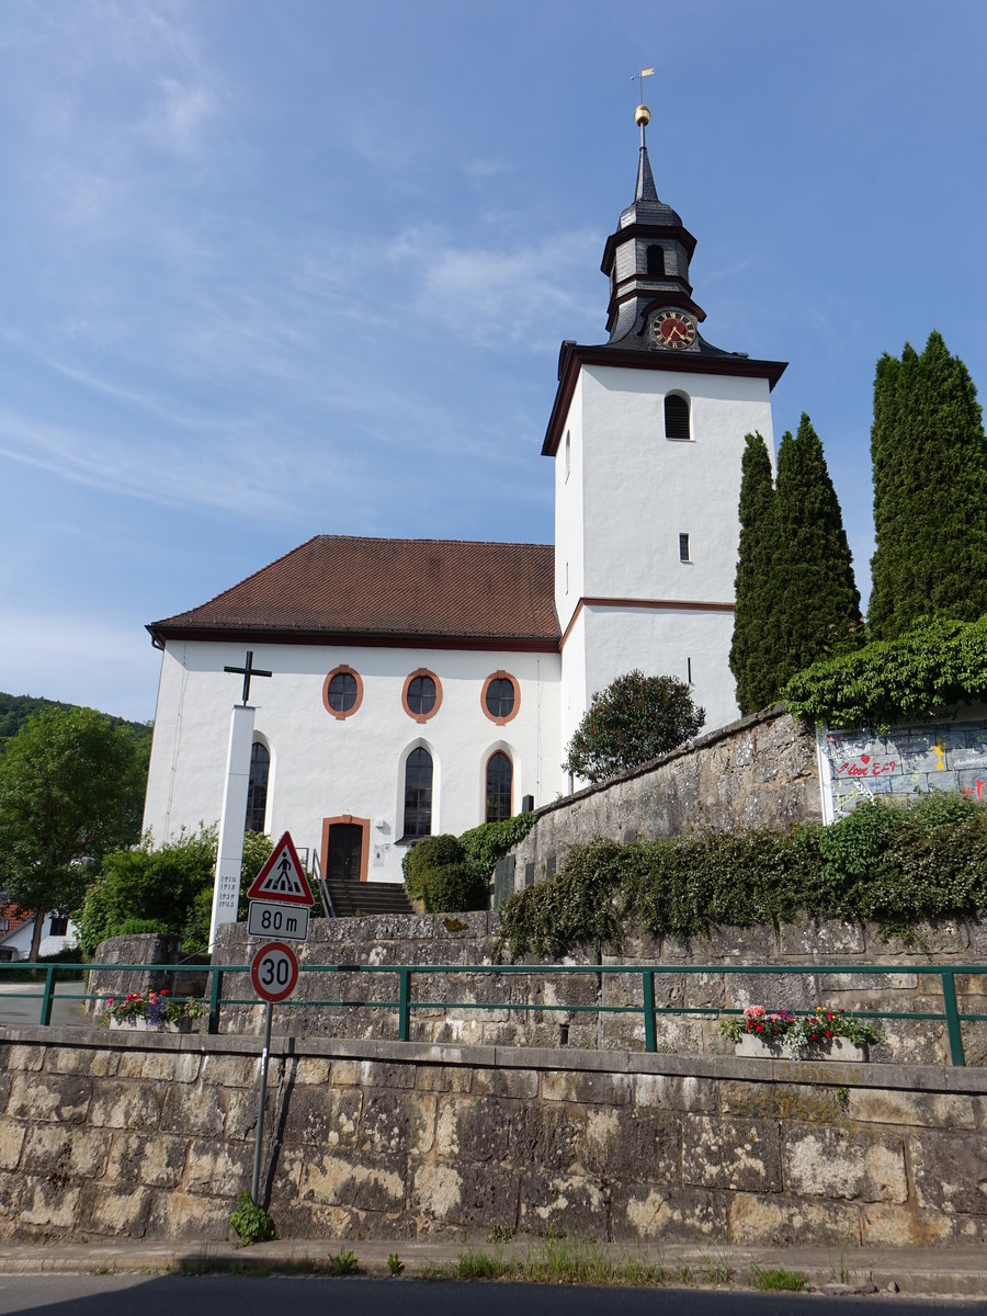
[[[705,832],[572,850],[549,882],[500,909],[499,953],[559,957],[620,948],[634,919],[679,941],[717,925],[799,916],[876,920],[894,930],[987,909],[987,805],[929,796],[862,803],[832,826]]]

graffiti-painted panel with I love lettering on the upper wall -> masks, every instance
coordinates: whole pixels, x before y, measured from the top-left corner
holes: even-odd
[[[822,812],[826,821],[859,800],[958,791],[987,800],[987,717],[969,721],[819,732]]]

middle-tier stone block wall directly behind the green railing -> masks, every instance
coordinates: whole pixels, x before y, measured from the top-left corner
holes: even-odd
[[[297,1037],[397,1038],[397,975],[370,974],[363,966],[415,965],[426,973],[411,980],[413,1001],[428,1004],[411,1013],[411,1040],[453,1045],[565,1046],[601,1050],[644,1050],[641,975],[596,973],[595,950],[566,957],[587,974],[538,975],[521,971],[497,975],[442,971],[441,966],[492,965],[496,913],[380,915],[367,919],[316,919],[309,940],[299,949],[303,966],[337,966],[332,973],[303,973],[291,1004],[275,1007],[275,1029]],[[858,1005],[867,1011],[942,1015],[941,978],[923,973],[930,963],[987,963],[987,924],[953,920],[913,929],[917,945],[888,938],[876,925],[836,920],[782,924],[779,928],[717,928],[688,945],[670,937],[630,932],[620,953],[601,948],[599,962],[661,965],[655,1004],[721,1009],[750,1004],[813,1009]],[[243,924],[220,929],[216,961],[247,965],[251,946]],[[921,948],[921,949],[919,949]],[[532,961],[536,962],[537,961]],[[799,976],[737,974],[738,965],[817,966]],[[882,978],[854,967],[883,965]],[[343,967],[341,971],[338,966]],[[684,973],[703,967],[703,973]],[[844,971],[837,971],[844,970]],[[987,976],[955,979],[959,1008],[987,1013]],[[224,974],[225,999],[254,999],[245,971]],[[332,1001],[333,1004],[316,1004]],[[343,1004],[372,1001],[374,1005]],[[461,1007],[449,1003],[461,1003]],[[462,1003],[467,1003],[465,1007]],[[633,1013],[607,1013],[597,1005],[632,1007]],[[224,1033],[259,1033],[262,1005],[224,1007]],[[658,1045],[682,1055],[711,1055],[729,1050],[719,1033],[716,1013],[658,1016]],[[921,1023],[887,1020],[888,1040],[875,1049],[880,1061],[944,1063],[949,1061],[945,1019]],[[987,1063],[987,1025],[963,1024],[969,1065]]]

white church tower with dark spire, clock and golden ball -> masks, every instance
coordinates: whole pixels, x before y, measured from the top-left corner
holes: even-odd
[[[563,342],[542,454],[555,462],[561,722],[633,667],[687,682],[712,730],[737,716],[729,670],[741,454],[774,453],[770,393],[786,366],[699,332],[696,240],[658,197],[638,105],[633,203],[607,240],[607,330]]]

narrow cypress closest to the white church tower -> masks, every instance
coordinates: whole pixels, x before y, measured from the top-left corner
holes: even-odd
[[[761,434],[747,434],[741,459],[740,555],[734,587],[730,671],[737,682],[737,704],[744,716],[776,696],[770,657],[774,632],[772,557],[774,488],[771,458]]]

